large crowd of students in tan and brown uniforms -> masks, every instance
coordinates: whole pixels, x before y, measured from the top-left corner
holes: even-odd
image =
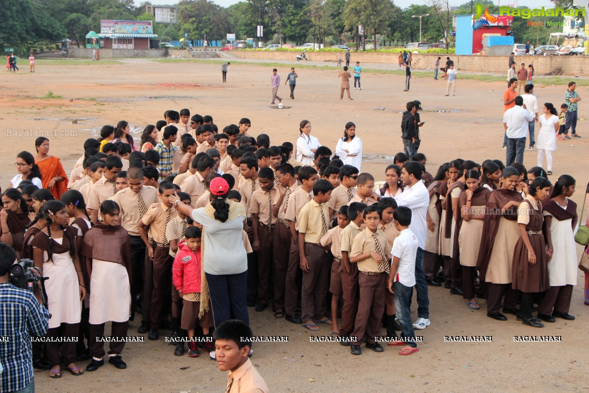
[[[219,132],[212,117],[187,109],[164,117],[145,127],[138,148],[126,121],[102,127],[100,140],[85,141],[69,179],[59,179],[69,189],[59,200],[39,188],[45,179],[26,152],[18,155],[19,175],[2,194],[1,241],[51,277],[47,336],[80,337],[35,347],[35,366],[52,378],[61,377],[62,365],[81,375],[77,361],[91,359],[87,371],[104,365],[96,338],[106,322],[123,338],[140,314],[138,332],[157,340],[159,329],[171,329],[174,354],[184,354],[187,338],[194,357],[200,348],[215,356],[213,330],[231,316],[249,323],[236,299],[227,300],[231,309],[221,317],[215,292],[203,293],[211,278],[203,270],[201,230],[211,227],[206,210],[192,209],[211,200],[217,209],[220,198],[231,201],[226,214],[239,203],[245,212],[232,244],[247,253],[247,279],[236,284],[244,286],[247,306],[272,306],[274,317],[313,332],[328,326],[352,354],[361,354],[362,342],[382,352],[382,326],[389,345],[402,346],[400,355],[417,351],[414,329],[431,324],[428,286],[462,295],[469,309],[486,299],[487,315],[498,321],[508,313],[539,328],[554,317],[574,319],[568,312],[578,216],[570,199],[575,179],[567,174],[553,184],[541,167],[456,159],[432,176],[422,153],[412,160],[398,153],[373,175],[360,173],[353,123],[342,139],[349,150],[338,144],[337,151],[358,167],[332,157],[306,120],[293,146],[249,136],[247,118]],[[378,187],[375,176],[382,175]],[[195,338],[204,338],[200,348]],[[124,345],[110,343],[108,362],[117,368],[126,367]]]

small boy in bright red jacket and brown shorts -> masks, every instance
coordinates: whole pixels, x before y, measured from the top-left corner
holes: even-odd
[[[209,328],[213,325],[210,309],[202,318],[198,318],[200,311],[201,234],[201,230],[196,226],[186,229],[184,241],[178,245],[178,253],[172,267],[174,286],[183,299],[181,328],[188,331],[188,356],[191,358],[198,356],[198,344],[194,339],[194,329],[197,325],[203,328],[203,335],[208,339]],[[204,343],[204,350],[214,351],[212,340]]]

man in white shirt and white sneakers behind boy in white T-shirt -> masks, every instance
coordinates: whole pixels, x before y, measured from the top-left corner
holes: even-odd
[[[417,292],[417,321],[413,323],[416,329],[425,329],[429,322],[429,298],[428,283],[423,273],[423,249],[425,249],[425,237],[427,235],[426,214],[428,213],[429,193],[421,176],[423,171],[421,164],[416,161],[408,161],[401,169],[403,184],[407,184],[400,196],[395,200],[399,206],[411,209],[412,219],[409,229],[415,234],[419,247],[415,257],[415,290]]]

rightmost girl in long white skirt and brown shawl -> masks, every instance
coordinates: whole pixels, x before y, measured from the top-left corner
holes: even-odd
[[[568,313],[573,285],[577,285],[577,250],[573,230],[578,216],[577,204],[570,199],[575,192],[575,183],[573,176],[560,176],[554,184],[552,198],[544,205],[550,289],[538,305],[538,318],[545,322],[554,322],[555,316],[568,321],[575,319]]]

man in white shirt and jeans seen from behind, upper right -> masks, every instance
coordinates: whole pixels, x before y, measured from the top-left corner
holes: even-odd
[[[503,127],[507,136],[507,158],[505,166],[514,162],[524,163],[525,136],[528,133],[528,123],[534,120],[534,115],[522,107],[524,98],[515,97],[515,106],[503,114]]]

